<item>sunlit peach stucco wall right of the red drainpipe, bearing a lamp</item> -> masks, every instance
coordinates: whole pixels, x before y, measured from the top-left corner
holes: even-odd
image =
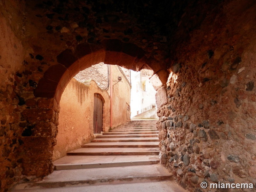
[[[127,110],[127,104],[130,106],[131,84],[125,79],[118,66],[113,65],[110,67],[112,68],[113,78],[112,127],[114,128],[130,120],[131,114],[130,109]],[[122,82],[118,82],[118,76],[122,76]]]

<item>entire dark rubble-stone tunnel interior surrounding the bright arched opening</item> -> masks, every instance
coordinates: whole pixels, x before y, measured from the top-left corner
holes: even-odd
[[[256,182],[255,1],[0,6],[2,191],[52,171],[61,93],[79,70],[99,62],[154,80],[161,163],[180,185],[201,191],[202,180]]]

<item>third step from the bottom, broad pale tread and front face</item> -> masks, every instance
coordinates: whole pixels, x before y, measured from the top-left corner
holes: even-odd
[[[157,155],[137,156],[65,156],[53,162],[54,170],[88,169],[157,164]]]

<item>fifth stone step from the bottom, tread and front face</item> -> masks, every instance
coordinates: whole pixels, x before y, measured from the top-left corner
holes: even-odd
[[[159,141],[152,142],[95,142],[82,145],[82,148],[136,148],[136,147],[158,147]]]

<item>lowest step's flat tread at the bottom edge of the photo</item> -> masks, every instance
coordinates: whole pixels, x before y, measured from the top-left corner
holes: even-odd
[[[90,185],[78,187],[58,187],[42,189],[20,189],[12,192],[187,192],[181,188],[174,180],[143,183],[122,183],[116,185]]]

